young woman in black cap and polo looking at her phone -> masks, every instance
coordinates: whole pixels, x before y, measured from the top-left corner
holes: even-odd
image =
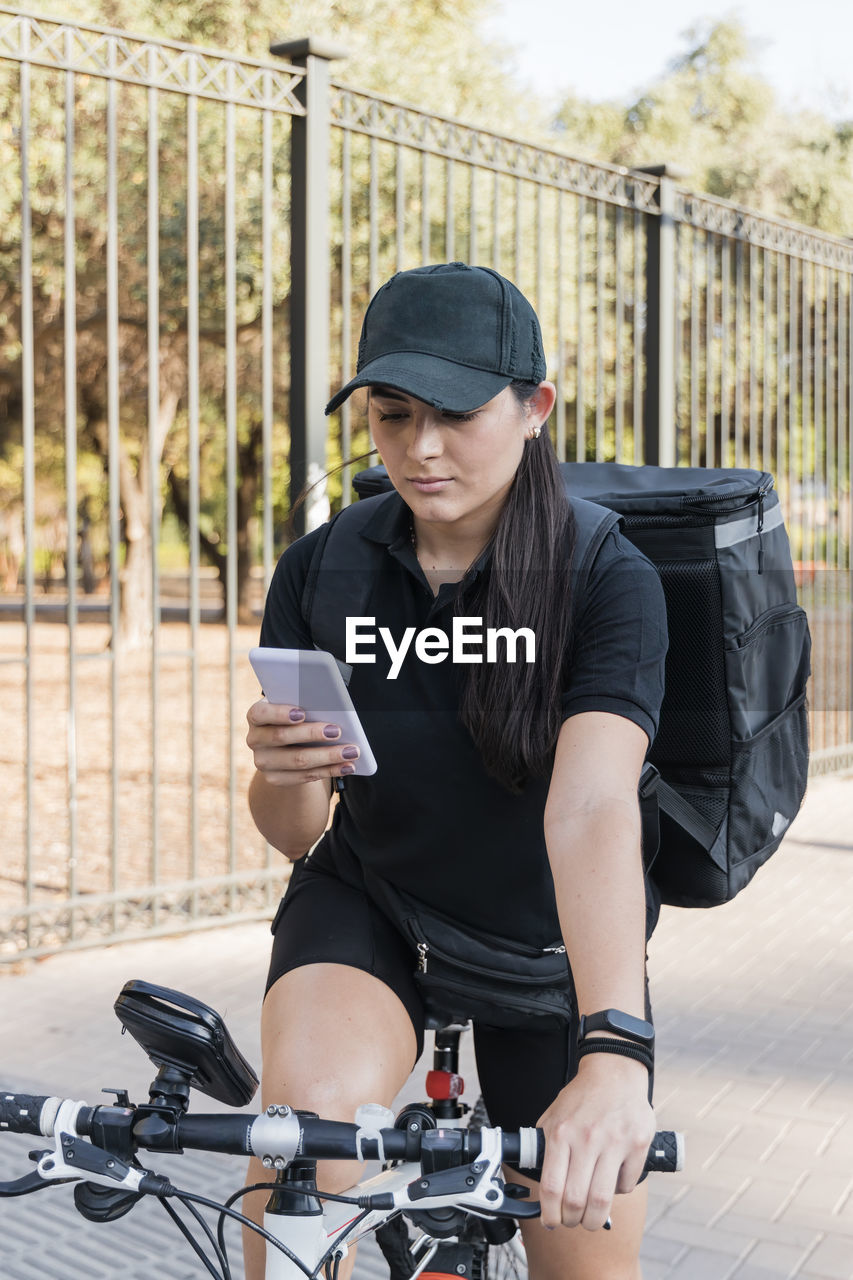
[[[346,783],[310,858],[330,780],[352,773],[356,749],[300,708],[250,708],[252,815],[296,861],[273,924],[264,1094],[350,1120],[364,1101],[389,1105],[412,1070],[418,957],[371,900],[365,870],[474,929],[538,945],[562,936],[576,1012],[617,1010],[625,1030],[593,1019],[584,1043],[603,1030],[611,1048],[579,1055],[576,1019],[567,1029],[475,1024],[480,1087],[493,1124],[547,1134],[540,1183],[512,1172],[542,1202],[524,1233],[532,1280],[637,1280],[637,1183],[654,1129],[644,986],[654,906],[647,913],[637,788],[662,698],[665,607],[657,573],[617,530],[583,593],[573,590],[574,521],[544,375],[523,294],[496,271],[452,262],[379,289],[357,374],[329,404],[366,388],[396,490],[357,535],[377,634],[451,636],[453,617],[478,618],[483,631],[529,628],[535,658],[519,650],[510,662],[498,646],[491,663],[453,662],[452,650],[426,662],[412,645],[391,678],[377,644],[350,691],[378,772]],[[302,590],[318,536],[278,564],[265,645],[313,648]],[[647,1043],[646,1060],[612,1052],[622,1036]],[[319,1183],[352,1178],[351,1165],[327,1166]],[[263,1280],[257,1238],[247,1277]]]

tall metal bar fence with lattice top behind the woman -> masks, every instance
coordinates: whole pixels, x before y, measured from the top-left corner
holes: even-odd
[[[369,448],[323,415],[364,305],[424,261],[535,302],[562,457],[776,475],[815,768],[853,759],[853,246],[274,52],[0,6],[0,959],[269,913],[246,652],[293,494]]]

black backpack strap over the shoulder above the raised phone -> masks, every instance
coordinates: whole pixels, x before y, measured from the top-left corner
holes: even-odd
[[[384,548],[359,534],[379,503],[392,493],[362,498],[345,507],[323,526],[302,589],[302,617],[315,649],[333,654],[345,684],[352,669],[343,662],[346,618],[362,617],[373,590],[371,571],[379,568]]]

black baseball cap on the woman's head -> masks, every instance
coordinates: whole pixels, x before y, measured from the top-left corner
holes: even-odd
[[[546,376],[542,330],[528,300],[497,271],[466,262],[392,275],[370,300],[356,369],[327,413],[370,384],[466,413],[511,381]]]

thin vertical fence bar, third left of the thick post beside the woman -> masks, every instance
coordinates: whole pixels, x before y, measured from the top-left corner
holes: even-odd
[[[190,64],[191,86],[195,87],[199,67]],[[200,543],[199,513],[201,508],[200,477],[200,264],[199,264],[199,99],[187,95],[187,486],[190,539],[190,876],[199,878],[199,751],[200,751]],[[193,895],[191,913],[199,910]]]

